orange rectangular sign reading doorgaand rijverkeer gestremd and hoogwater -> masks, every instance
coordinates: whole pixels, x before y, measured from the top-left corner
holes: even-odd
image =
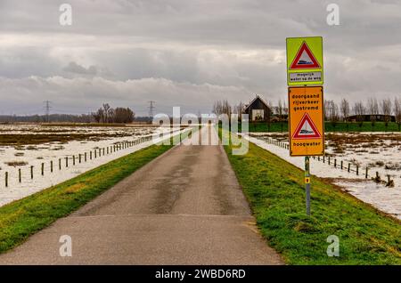
[[[288,88],[290,155],[324,154],[323,86]]]

